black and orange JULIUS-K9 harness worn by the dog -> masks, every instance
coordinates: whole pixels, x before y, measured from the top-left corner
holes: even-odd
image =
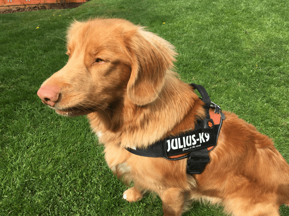
[[[211,99],[201,85],[190,84],[197,89],[201,94],[201,100],[205,103],[206,118],[197,120],[194,130],[188,130],[182,132],[177,136],[166,137],[163,140],[159,140],[153,145],[148,146],[146,149],[130,148],[127,147],[127,151],[144,157],[163,157],[167,160],[180,160],[188,158],[187,160],[187,173],[188,174],[200,174],[205,165],[210,161],[208,152],[214,149],[217,144],[218,135],[221,130],[225,115],[222,113],[221,107],[211,102]],[[210,118],[209,109],[215,108],[215,113],[221,115],[220,124],[214,125],[213,120]],[[208,147],[213,148],[208,151]],[[189,153],[188,153],[189,152]],[[178,158],[169,158],[172,156],[188,153],[185,156]]]

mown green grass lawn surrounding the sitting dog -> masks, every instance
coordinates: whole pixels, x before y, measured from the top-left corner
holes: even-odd
[[[162,215],[160,199],[122,199],[85,117],[63,118],[36,95],[62,68],[73,20],[125,18],[170,41],[185,82],[275,141],[289,162],[287,0],[91,0],[75,9],[0,15],[0,215]],[[54,16],[53,16],[54,14]],[[165,22],[165,24],[163,24]],[[36,27],[39,28],[36,29]],[[289,208],[281,206],[281,215]],[[225,215],[193,203],[184,215]]]

